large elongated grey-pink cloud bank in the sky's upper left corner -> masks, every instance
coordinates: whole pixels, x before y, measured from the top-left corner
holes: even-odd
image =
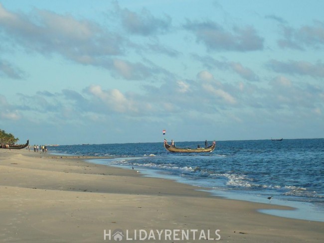
[[[86,19],[39,9],[30,14],[11,13],[0,4],[0,20],[3,32],[27,51],[60,54],[92,65],[122,53],[123,38]]]

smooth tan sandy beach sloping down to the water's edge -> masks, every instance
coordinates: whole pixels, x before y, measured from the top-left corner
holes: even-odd
[[[287,207],[214,197],[84,159],[0,149],[0,242],[114,242],[117,229],[122,242],[324,240],[324,223],[257,212]]]

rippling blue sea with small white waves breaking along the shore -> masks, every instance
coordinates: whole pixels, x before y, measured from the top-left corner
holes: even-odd
[[[177,147],[198,144],[203,147],[204,141],[175,141]],[[293,207],[260,212],[324,222],[323,138],[216,141],[208,153],[172,153],[163,141],[48,146],[48,152],[107,156],[87,162],[134,168],[143,176],[198,186],[214,196]]]

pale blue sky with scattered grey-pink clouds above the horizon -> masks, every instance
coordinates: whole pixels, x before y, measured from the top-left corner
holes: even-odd
[[[62,145],[323,138],[323,9],[0,0],[0,129]]]

